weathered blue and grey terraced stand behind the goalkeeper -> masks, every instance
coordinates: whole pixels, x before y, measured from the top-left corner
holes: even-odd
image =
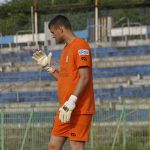
[[[53,62],[59,67],[61,51],[52,52]],[[30,133],[34,132],[36,138],[44,138],[48,133],[47,141],[41,144],[47,146],[49,130],[58,108],[57,82],[32,61],[32,54],[32,50],[1,51],[0,106],[8,145],[12,145],[12,140],[14,145],[21,143],[25,128],[32,128],[26,137],[26,145],[30,145]],[[95,139],[94,147],[112,145],[115,133],[118,132],[119,137],[124,129],[128,143],[137,143],[137,140],[139,143],[140,138],[135,136],[139,131],[139,146],[147,143],[149,137],[144,133],[149,128],[150,46],[93,48],[92,56],[97,108],[91,132]],[[122,126],[123,116],[126,116],[126,128]],[[118,143],[117,138],[116,145]]]

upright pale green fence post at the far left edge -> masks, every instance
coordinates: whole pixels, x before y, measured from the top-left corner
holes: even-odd
[[[1,107],[1,150],[4,150],[4,108]]]

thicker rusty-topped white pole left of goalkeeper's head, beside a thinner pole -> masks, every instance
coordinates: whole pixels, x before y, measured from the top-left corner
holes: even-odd
[[[35,43],[38,48],[38,0],[34,0]]]

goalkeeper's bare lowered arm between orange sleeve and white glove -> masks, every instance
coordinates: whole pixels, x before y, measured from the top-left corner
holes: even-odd
[[[87,86],[89,79],[90,79],[90,68],[89,67],[80,67],[79,68],[79,74],[80,78],[79,81],[75,87],[75,90],[73,91],[73,95],[79,97],[79,95],[82,93],[82,91]]]

